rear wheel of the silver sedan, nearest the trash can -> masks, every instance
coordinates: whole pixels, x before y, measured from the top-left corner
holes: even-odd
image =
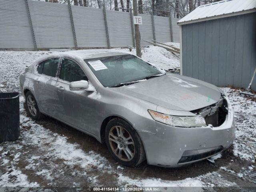
[[[39,111],[34,95],[28,91],[25,98],[26,111],[28,112],[28,115],[34,120],[40,120],[43,117],[43,114]]]

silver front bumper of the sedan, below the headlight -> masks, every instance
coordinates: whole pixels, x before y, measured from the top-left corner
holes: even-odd
[[[226,120],[219,127],[181,128],[156,122],[156,130],[156,135],[140,132],[140,137],[148,164],[164,167],[178,167],[214,156],[228,148],[235,138],[229,102]]]

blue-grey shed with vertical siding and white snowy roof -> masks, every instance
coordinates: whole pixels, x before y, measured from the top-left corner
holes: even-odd
[[[216,86],[248,86],[256,67],[255,0],[203,5],[178,24],[182,75]]]

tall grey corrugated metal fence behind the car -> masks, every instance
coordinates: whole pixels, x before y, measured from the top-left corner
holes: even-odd
[[[179,42],[177,19],[140,16],[142,46],[148,45],[143,39],[154,37],[162,42]],[[0,0],[0,49],[134,46],[132,26],[130,12],[34,0]]]

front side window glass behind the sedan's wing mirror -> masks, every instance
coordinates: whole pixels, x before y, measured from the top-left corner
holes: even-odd
[[[80,66],[76,64],[76,62],[70,59],[62,60],[60,79],[68,82],[80,81],[80,80],[88,81],[88,78],[86,77],[86,75],[84,74]]]

